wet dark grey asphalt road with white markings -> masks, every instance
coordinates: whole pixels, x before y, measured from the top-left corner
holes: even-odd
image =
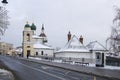
[[[14,73],[16,80],[110,80],[9,56],[0,56],[0,61]]]

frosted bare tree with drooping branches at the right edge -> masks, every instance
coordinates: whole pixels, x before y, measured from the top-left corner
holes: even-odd
[[[107,39],[109,41],[109,51],[115,55],[120,53],[120,9],[115,8],[116,16],[113,19],[113,26],[110,37]]]

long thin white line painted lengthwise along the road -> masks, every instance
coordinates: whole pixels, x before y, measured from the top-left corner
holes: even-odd
[[[42,73],[44,73],[44,74],[47,74],[47,75],[49,75],[49,76],[58,78],[58,79],[60,79],[60,80],[66,80],[65,78],[59,77],[59,76],[57,76],[57,75],[54,75],[54,74],[51,74],[51,73],[48,73],[48,72],[45,72],[45,71],[43,71],[43,70],[40,70],[40,69],[37,69],[37,68],[33,68],[33,67],[30,67],[30,66],[25,65],[25,64],[22,64],[22,63],[19,63],[19,64],[21,64],[21,65],[23,65],[23,66],[25,66],[25,67],[27,67],[27,68],[30,68],[30,69],[33,69],[33,70],[42,72]]]

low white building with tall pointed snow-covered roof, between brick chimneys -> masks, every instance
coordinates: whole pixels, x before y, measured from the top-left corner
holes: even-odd
[[[91,59],[92,54],[74,35],[63,49],[55,53],[55,57]]]

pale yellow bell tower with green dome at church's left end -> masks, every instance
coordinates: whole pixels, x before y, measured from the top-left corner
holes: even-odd
[[[23,42],[22,42],[23,57],[34,55],[33,44],[32,44],[32,35],[33,35],[33,31],[31,30],[31,26],[27,22],[26,25],[24,26],[24,30],[23,30]]]

